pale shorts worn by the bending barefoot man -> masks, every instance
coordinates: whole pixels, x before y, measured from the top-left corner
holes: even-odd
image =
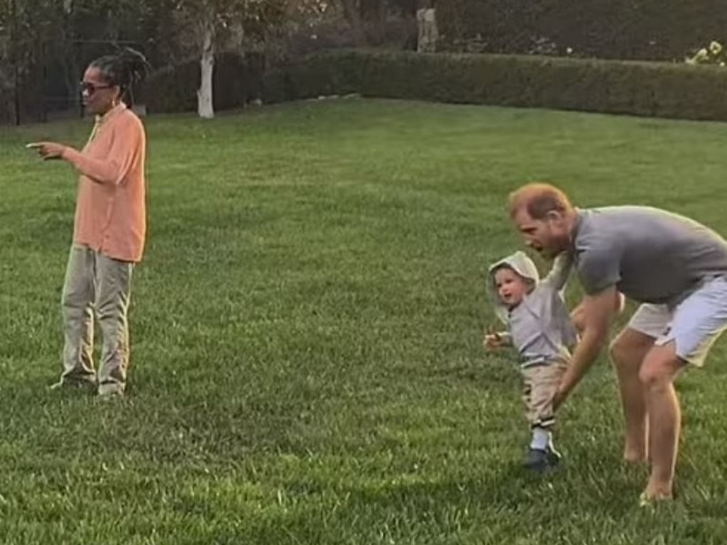
[[[702,366],[707,352],[727,328],[727,278],[712,278],[676,307],[644,303],[629,328],[654,338],[662,346],[675,343],[676,355]]]

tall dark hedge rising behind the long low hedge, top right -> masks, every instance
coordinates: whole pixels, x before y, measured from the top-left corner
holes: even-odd
[[[724,0],[446,0],[437,15],[443,47],[459,51],[475,36],[481,52],[508,54],[548,39],[561,55],[681,61],[704,36],[727,39]]]

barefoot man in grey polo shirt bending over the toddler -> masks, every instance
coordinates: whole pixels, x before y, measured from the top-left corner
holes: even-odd
[[[510,216],[531,248],[571,251],[584,288],[583,334],[555,405],[578,384],[608,337],[614,297],[640,302],[611,344],[626,427],[624,457],[651,461],[643,502],[672,498],[680,433],[674,381],[702,366],[727,327],[727,241],[704,225],[646,206],[579,210],[547,184],[510,195]]]

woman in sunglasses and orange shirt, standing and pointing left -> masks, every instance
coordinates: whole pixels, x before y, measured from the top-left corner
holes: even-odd
[[[133,49],[93,61],[81,83],[84,105],[96,121],[85,147],[28,145],[44,159],[68,161],[80,174],[62,297],[63,374],[53,388],[90,389],[105,399],[124,395],[132,269],[144,249],[145,132],[124,101],[148,66]],[[92,360],[95,320],[103,336],[98,373]]]

